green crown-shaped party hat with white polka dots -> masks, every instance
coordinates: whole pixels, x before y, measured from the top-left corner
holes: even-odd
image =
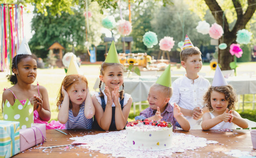
[[[6,100],[3,105],[3,120],[19,121],[21,129],[33,126],[33,116],[33,105],[28,99],[24,105],[22,105],[18,99],[15,100],[13,106],[8,100]]]

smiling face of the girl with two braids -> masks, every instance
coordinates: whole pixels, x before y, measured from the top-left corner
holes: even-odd
[[[110,92],[113,91],[116,86],[122,86],[123,84],[123,68],[120,66],[108,66],[104,71],[104,76],[100,75],[100,80],[105,82]]]

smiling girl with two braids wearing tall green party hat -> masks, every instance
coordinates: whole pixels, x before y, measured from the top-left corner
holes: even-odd
[[[101,84],[105,84],[105,89],[101,89]],[[123,87],[121,91],[120,86]],[[100,68],[99,88],[100,93],[92,95],[95,107],[92,129],[122,130],[127,123],[132,98],[130,94],[124,93],[123,65],[119,62],[113,42]]]

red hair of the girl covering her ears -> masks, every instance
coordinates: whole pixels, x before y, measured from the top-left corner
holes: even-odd
[[[81,74],[71,74],[71,75],[67,75],[62,83],[61,83],[61,87],[63,86],[64,89],[66,91],[68,91],[71,86],[73,84],[76,84],[78,83],[79,81],[84,81],[86,83],[86,88],[88,87],[88,81],[86,79],[86,77],[84,77],[83,75]],[[63,102],[63,95],[61,94],[61,88],[59,90],[59,94],[58,94],[58,97],[57,97],[57,111],[59,111],[59,106],[61,106],[62,102]],[[69,100],[69,110],[72,109],[72,104],[71,104],[71,101]]]

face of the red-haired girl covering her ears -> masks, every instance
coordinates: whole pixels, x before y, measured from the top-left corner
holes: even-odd
[[[67,91],[72,105],[81,105],[86,99],[87,87],[84,81],[79,81],[70,86]]]

